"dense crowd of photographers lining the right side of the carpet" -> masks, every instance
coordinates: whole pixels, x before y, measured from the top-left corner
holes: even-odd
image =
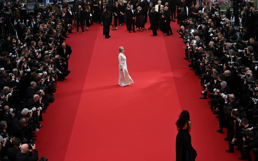
[[[209,99],[220,127],[217,132],[227,133],[226,152],[239,150],[239,160],[251,161],[258,160],[258,15],[252,3],[236,4],[242,14],[234,23],[230,14],[220,14],[217,2],[205,12],[204,4],[190,4],[187,18],[179,15],[177,32],[186,44],[184,59],[200,78],[200,99]],[[239,31],[233,26],[239,26],[237,19],[242,19]]]

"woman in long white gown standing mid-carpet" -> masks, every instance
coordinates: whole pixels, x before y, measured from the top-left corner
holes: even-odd
[[[119,70],[119,78],[118,78],[118,84],[120,86],[130,85],[133,83],[132,78],[129,76],[129,73],[127,71],[127,65],[126,65],[126,57],[124,54],[125,49],[123,47],[119,47],[119,55],[118,55],[118,70]]]

